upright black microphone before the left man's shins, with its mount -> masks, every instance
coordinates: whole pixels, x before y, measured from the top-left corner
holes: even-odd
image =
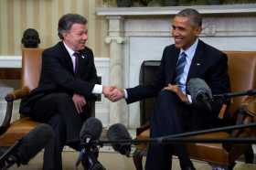
[[[87,170],[105,170],[103,165],[97,160],[99,148],[96,143],[101,137],[102,123],[97,118],[89,118],[83,123],[80,130],[80,144],[83,147],[76,166],[80,163]]]

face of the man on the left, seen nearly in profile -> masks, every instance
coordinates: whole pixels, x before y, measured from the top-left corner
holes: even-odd
[[[88,39],[87,25],[73,24],[72,27],[63,34],[64,42],[74,51],[79,51],[85,48],[85,43]]]

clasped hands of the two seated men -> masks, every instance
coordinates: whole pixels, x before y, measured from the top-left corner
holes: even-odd
[[[105,98],[108,98],[110,101],[120,101],[124,98],[124,90],[118,89],[115,86],[103,86],[102,93]]]

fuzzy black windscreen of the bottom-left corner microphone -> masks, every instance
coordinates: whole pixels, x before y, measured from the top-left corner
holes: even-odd
[[[37,125],[27,133],[21,139],[21,144],[17,150],[21,164],[27,165],[28,161],[40,152],[53,136],[52,127],[45,123]]]

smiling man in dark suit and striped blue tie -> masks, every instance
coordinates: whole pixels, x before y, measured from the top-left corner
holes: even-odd
[[[187,82],[200,78],[208,83],[213,94],[229,92],[228,58],[218,49],[200,39],[202,17],[195,9],[180,11],[173,20],[175,44],[164,49],[159,73],[149,86],[115,89],[110,100],[125,98],[127,103],[156,96],[151,117],[151,137],[197,131],[221,125],[219,102],[206,105],[192,103],[187,94]],[[171,152],[177,154],[181,169],[195,169],[182,144],[150,144],[146,170],[171,169]]]

